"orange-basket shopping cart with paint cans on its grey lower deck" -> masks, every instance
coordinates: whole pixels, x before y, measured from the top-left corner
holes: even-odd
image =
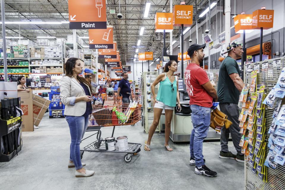
[[[121,140],[114,139],[115,126],[121,125],[133,125],[140,121],[141,117],[141,105],[136,101],[132,101],[130,104],[122,103],[122,97],[120,96],[104,96],[104,97],[95,97],[92,101],[92,113],[89,116],[89,126],[87,132],[94,132],[90,136],[81,140],[84,140],[93,137],[95,141],[85,146],[80,150],[81,158],[85,151],[87,152],[112,152],[112,153],[126,153],[124,160],[130,162],[132,160],[132,154],[137,155],[140,152],[140,143],[122,143]],[[103,139],[101,128],[113,126],[112,136],[106,139],[113,139],[114,146],[110,146],[105,139]],[[123,136],[124,137],[124,136]],[[126,139],[125,139],[126,140]],[[120,141],[120,143],[118,142]],[[109,145],[109,147],[108,147]]]

